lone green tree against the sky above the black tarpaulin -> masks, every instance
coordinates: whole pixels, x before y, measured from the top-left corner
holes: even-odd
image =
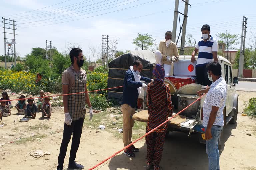
[[[148,49],[150,46],[154,44],[154,39],[151,37],[151,35],[147,34],[140,34],[138,33],[138,37],[133,39],[133,44],[135,44],[138,47],[143,49]]]

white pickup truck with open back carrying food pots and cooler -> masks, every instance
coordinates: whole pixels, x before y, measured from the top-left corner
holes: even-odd
[[[170,85],[172,92],[172,102],[174,105],[173,115],[184,109],[190,103],[199,98],[196,95],[198,90],[206,88],[205,86],[196,84],[196,71],[195,63],[190,61],[191,56],[180,56],[179,61],[173,64],[173,70],[171,73],[171,78],[165,78],[165,82]],[[197,57],[196,57],[197,59]],[[232,64],[224,57],[218,56],[219,63],[222,67],[222,77],[226,80],[227,83],[227,100],[225,108],[223,110],[224,115],[224,128],[228,123],[235,124],[237,120],[238,113],[238,94],[236,93],[235,86],[238,84],[238,78],[233,77]],[[176,81],[178,80],[178,81]],[[189,80],[189,81],[188,81]],[[185,84],[185,85],[184,85]],[[181,86],[181,87],[180,87]],[[186,121],[180,123],[180,126],[169,125],[167,134],[170,131],[185,131],[188,135],[191,132],[198,132],[199,141],[204,143],[205,140],[202,137],[204,133],[203,127],[203,104],[206,95],[204,95],[200,101],[196,102],[194,105],[189,107],[187,110],[180,113],[180,115],[186,116]],[[144,102],[141,105],[140,109],[147,109],[146,106],[146,92],[144,94]],[[139,103],[139,101],[138,101]],[[142,109],[143,108],[143,109]],[[138,110],[138,111],[141,111]],[[136,114],[139,114],[136,113]],[[222,131],[223,132],[223,131]],[[221,137],[219,139],[219,148],[221,147]]]

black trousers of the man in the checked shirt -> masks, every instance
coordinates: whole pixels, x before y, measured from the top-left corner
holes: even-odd
[[[69,155],[69,164],[74,163],[76,159],[76,152],[78,150],[80,144],[80,138],[83,130],[84,119],[80,118],[77,121],[72,121],[71,126],[64,123],[64,130],[63,130],[63,139],[60,145],[60,154],[58,157],[58,168],[63,168],[64,159],[67,153],[68,143],[70,141],[71,135],[72,137],[72,144],[71,150]]]

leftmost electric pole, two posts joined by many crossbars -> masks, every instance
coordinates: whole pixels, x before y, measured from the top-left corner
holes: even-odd
[[[14,56],[14,66],[16,66],[16,39],[15,39],[15,35],[17,35],[17,34],[15,34],[15,30],[17,30],[17,29],[15,28],[16,20],[10,20],[10,18],[9,19],[2,18],[2,19],[3,19],[2,23],[4,24],[3,25],[4,32],[2,32],[2,33],[4,33],[4,66],[5,66],[5,68],[7,68],[7,63],[6,63],[6,54],[7,54],[6,53],[6,44],[8,44],[10,47],[11,47],[10,44],[13,44],[13,46],[14,46],[14,52],[12,52],[12,55]],[[10,21],[10,22],[7,23],[6,21],[7,22]],[[6,27],[6,25],[11,25],[13,27],[12,28],[11,27]],[[13,30],[13,33],[6,32],[6,29]],[[12,34],[13,38],[12,39],[6,38],[6,34]],[[8,40],[11,40],[11,42],[8,42]],[[9,50],[10,50],[10,48],[8,49],[8,51]]]

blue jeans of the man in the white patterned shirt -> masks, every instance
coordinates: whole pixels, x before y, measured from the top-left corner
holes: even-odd
[[[206,140],[206,153],[209,159],[209,170],[220,170],[220,154],[218,148],[218,140],[220,137],[220,133],[222,130],[221,127],[212,126],[211,133],[212,138],[210,140]],[[206,127],[205,127],[206,130]]]

